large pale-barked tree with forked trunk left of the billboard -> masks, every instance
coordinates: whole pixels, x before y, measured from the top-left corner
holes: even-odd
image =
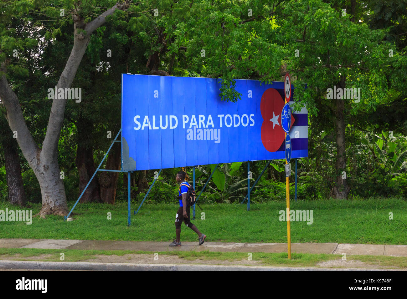
[[[102,5],[111,4],[112,1],[102,1]],[[63,4],[59,2],[58,4]],[[28,164],[33,169],[35,176],[39,181],[42,194],[42,209],[39,212],[41,216],[47,214],[55,214],[64,216],[68,213],[66,203],[66,194],[63,181],[60,179],[60,169],[58,165],[58,140],[61,133],[61,127],[64,119],[64,111],[67,98],[54,98],[51,112],[48,120],[48,126],[42,147],[34,141],[31,135],[18,100],[18,96],[11,88],[9,81],[6,77],[7,70],[9,69],[9,58],[12,53],[13,46],[24,48],[24,46],[34,46],[33,40],[27,37],[26,39],[14,39],[12,44],[4,46],[5,41],[13,39],[15,30],[11,27],[11,20],[13,17],[20,17],[26,21],[26,26],[30,24],[29,13],[31,10],[41,11],[42,13],[50,13],[53,17],[59,15],[59,10],[53,6],[53,1],[46,1],[42,7],[35,7],[29,1],[4,1],[2,4],[2,53],[0,56],[2,72],[0,78],[0,98],[7,109],[7,121],[12,131],[17,131],[19,137],[17,138],[18,144],[22,150],[24,157],[27,159]],[[61,5],[61,7],[63,7]],[[74,41],[72,50],[70,52],[68,61],[59,76],[57,90],[65,90],[70,88],[72,81],[77,72],[82,57],[88,47],[90,37],[96,28],[100,27],[106,22],[106,17],[112,15],[114,11],[120,9],[127,9],[129,1],[112,5],[99,15],[101,12],[100,7],[94,6],[94,1],[82,1],[79,3],[72,3],[68,7],[64,7],[67,14],[72,17],[74,25]],[[91,20],[94,14],[98,16]],[[64,19],[63,22],[68,21]],[[36,22],[34,26],[40,26],[41,23]],[[59,29],[56,29],[58,31]],[[4,52],[7,51],[8,55]],[[9,56],[8,58],[6,58]],[[11,69],[13,70],[13,69]],[[60,89],[61,88],[61,89]]]

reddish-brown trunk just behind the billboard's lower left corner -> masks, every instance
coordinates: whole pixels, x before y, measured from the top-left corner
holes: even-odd
[[[106,169],[119,170],[121,163],[121,148],[114,146],[107,157]],[[101,201],[114,205],[116,199],[118,172],[102,171],[99,175]]]

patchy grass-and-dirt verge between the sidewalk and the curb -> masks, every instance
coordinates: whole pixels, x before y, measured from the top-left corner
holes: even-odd
[[[61,261],[61,251],[65,262],[80,262],[85,260],[103,260],[103,262],[112,262],[112,258],[123,257],[120,262],[145,263],[146,259],[154,261],[153,251],[101,251],[101,250],[58,250],[58,249],[31,249],[31,248],[0,248],[0,260],[35,260],[46,262]],[[140,258],[142,255],[142,258]],[[247,253],[241,252],[210,252],[210,251],[162,251],[158,252],[156,263],[186,263],[188,261],[197,264],[245,264],[257,266],[298,266],[298,267],[317,267],[318,263],[337,261],[332,267],[355,267],[352,261],[360,261],[363,264],[356,267],[376,267],[376,268],[407,268],[406,257],[391,256],[373,256],[373,255],[348,255],[347,261],[342,263],[341,255],[333,254],[310,254],[310,253],[292,253],[291,260],[287,258],[287,253],[264,253],[255,252],[252,254],[252,260],[248,260]],[[166,259],[167,257],[176,257],[177,259]],[[115,262],[118,262],[117,259]],[[187,263],[188,263],[187,262]],[[323,266],[326,267],[326,266]],[[329,267],[329,266],[328,266]]]

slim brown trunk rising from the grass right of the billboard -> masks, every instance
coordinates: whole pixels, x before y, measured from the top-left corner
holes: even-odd
[[[345,78],[341,79],[339,83],[340,88],[345,88]],[[345,171],[346,174],[346,144],[345,144],[345,132],[346,132],[346,125],[345,125],[345,118],[344,118],[344,110],[345,110],[345,101],[343,98],[336,100],[336,186],[333,188],[333,194],[337,199],[346,199],[348,197],[348,193],[350,187],[346,183],[346,179],[342,178],[344,175],[342,172]]]

